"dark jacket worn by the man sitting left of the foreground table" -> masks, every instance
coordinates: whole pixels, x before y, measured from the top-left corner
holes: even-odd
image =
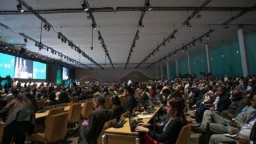
[[[98,135],[105,124],[112,118],[112,110],[99,107],[89,116],[89,125],[81,126],[79,129],[78,143],[81,144],[96,144]]]

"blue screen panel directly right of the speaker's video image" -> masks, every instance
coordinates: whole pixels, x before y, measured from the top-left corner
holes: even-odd
[[[46,64],[33,61],[33,79],[46,79]]]

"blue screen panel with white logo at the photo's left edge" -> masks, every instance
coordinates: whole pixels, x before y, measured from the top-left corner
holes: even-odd
[[[7,75],[10,75],[10,77],[13,78],[14,62],[15,62],[14,56],[0,53],[0,76],[1,77],[6,77]]]

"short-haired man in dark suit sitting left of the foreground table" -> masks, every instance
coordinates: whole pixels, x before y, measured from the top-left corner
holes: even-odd
[[[97,94],[93,98],[93,107],[95,111],[89,116],[89,120],[85,120],[79,129],[78,143],[96,144],[98,135],[102,131],[105,122],[112,118],[112,111],[104,108],[105,98],[101,94]]]

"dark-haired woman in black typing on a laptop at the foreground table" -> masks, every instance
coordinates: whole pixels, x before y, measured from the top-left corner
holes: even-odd
[[[181,128],[187,124],[183,105],[182,98],[171,98],[165,108],[170,118],[162,125],[139,123],[135,131],[144,133],[140,137],[140,143],[176,143]]]

